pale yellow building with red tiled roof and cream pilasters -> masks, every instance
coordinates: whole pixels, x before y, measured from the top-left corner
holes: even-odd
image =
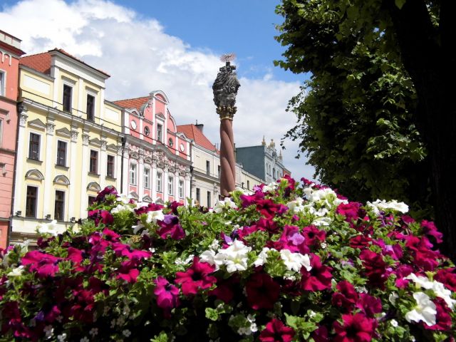
[[[39,222],[63,231],[121,182],[123,108],[105,100],[109,75],[60,49],[20,63],[11,243],[33,239]]]

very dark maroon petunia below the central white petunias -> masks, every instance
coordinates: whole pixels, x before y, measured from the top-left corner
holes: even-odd
[[[245,288],[247,302],[254,310],[272,309],[277,299],[279,299],[280,285],[269,274],[254,274],[250,277]]]

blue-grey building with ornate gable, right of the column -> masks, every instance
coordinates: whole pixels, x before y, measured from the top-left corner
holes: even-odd
[[[263,138],[261,145],[236,147],[236,161],[247,172],[264,180],[266,184],[276,182],[288,170],[284,167],[281,152],[277,154],[276,143],[271,139],[269,145]]]

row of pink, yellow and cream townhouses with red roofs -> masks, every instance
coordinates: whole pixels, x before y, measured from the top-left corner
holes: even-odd
[[[176,124],[165,93],[109,101],[105,71],[20,43],[0,31],[0,247],[33,243],[52,219],[63,232],[107,186],[139,202],[219,199],[219,150],[202,125]],[[265,179],[237,164],[236,182]]]

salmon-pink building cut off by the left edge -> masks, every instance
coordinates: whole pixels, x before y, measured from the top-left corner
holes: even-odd
[[[5,248],[11,221],[16,159],[17,96],[21,40],[0,31],[0,247]]]

